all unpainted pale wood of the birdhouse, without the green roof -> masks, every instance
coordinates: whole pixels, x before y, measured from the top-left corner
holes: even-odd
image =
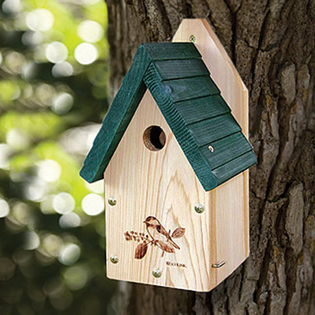
[[[202,20],[184,20],[174,40],[197,38],[197,48],[234,116],[247,134],[247,90],[216,36]],[[159,125],[166,133],[165,147],[149,151],[142,134]],[[147,91],[104,173],[107,274],[112,279],[209,291],[233,272],[249,255],[248,173],[205,192],[162,113]],[[205,211],[197,214],[194,205]],[[164,253],[149,246],[142,259],[134,259],[138,242],[125,240],[125,231],[145,232],[147,216],[155,216],[168,230],[185,228],[176,240],[180,250]],[[117,255],[118,264],[110,263]],[[225,260],[225,265],[213,268]],[[170,262],[171,264],[168,264]],[[183,265],[180,266],[180,265]],[[162,276],[152,275],[160,268]]]

